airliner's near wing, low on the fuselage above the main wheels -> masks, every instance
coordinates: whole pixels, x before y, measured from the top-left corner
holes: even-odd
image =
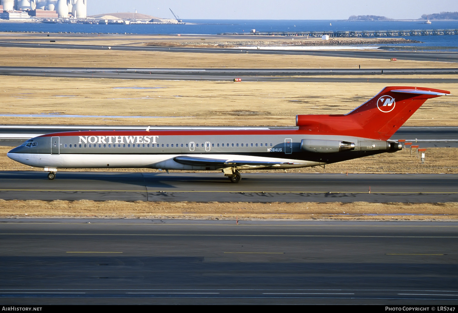
[[[299,164],[299,163],[289,163],[289,162],[273,162],[273,161],[253,161],[253,160],[232,160],[232,159],[216,159],[212,157],[190,157],[190,156],[178,156],[174,157],[174,161],[185,164],[185,165],[195,165],[195,166],[206,166],[206,165],[221,165],[227,167],[236,167],[236,166],[274,166],[280,164]]]

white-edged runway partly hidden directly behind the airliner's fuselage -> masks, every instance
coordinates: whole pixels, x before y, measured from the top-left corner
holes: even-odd
[[[2,115],[1,116],[11,116]],[[47,115],[44,115],[47,116]],[[62,115],[55,115],[59,118]],[[109,118],[109,116],[106,116]],[[150,129],[181,129],[181,127],[153,127]],[[228,127],[187,126],[192,129],[227,129]],[[104,125],[0,125],[0,146],[19,146],[25,140],[49,133],[76,130],[144,130],[147,126],[104,126]],[[245,129],[259,129],[259,127],[246,126]],[[265,129],[297,129],[296,127],[264,127]],[[458,147],[458,127],[454,126],[429,126],[401,127],[390,139],[405,139],[407,142],[416,142],[421,147]]]

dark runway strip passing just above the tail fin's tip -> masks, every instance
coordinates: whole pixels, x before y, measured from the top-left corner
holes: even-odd
[[[392,75],[456,75],[458,68],[447,69],[156,69],[156,68],[56,68],[34,66],[1,66],[0,75],[79,77],[114,79],[161,79],[231,81],[331,81],[423,83],[424,78],[393,78]],[[366,77],[357,77],[365,75]],[[371,75],[370,78],[367,75]],[[317,77],[319,76],[319,77]],[[373,76],[373,77],[372,77]],[[458,82],[457,78],[428,78],[431,83]]]

